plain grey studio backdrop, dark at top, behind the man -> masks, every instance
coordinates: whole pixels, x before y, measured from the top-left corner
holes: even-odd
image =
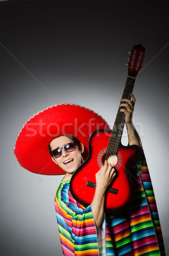
[[[62,176],[36,175],[19,166],[15,139],[30,116],[63,102],[91,108],[113,125],[135,44],[146,48],[146,58],[134,88],[134,124],[169,254],[166,4],[0,1],[0,255],[62,255],[54,209]]]

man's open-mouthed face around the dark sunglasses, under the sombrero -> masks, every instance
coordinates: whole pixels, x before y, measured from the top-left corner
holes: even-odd
[[[55,138],[51,141],[51,151],[53,151],[56,148],[61,148],[64,145],[72,142],[68,137],[66,136],[60,136]],[[66,173],[73,174],[74,171],[77,169],[77,167],[80,166],[81,163],[83,163],[82,153],[84,151],[84,146],[81,143],[80,149],[77,145],[74,145],[74,151],[72,152],[66,152],[64,149],[62,149],[62,154],[60,157],[54,158],[52,157],[52,160],[60,166]]]

